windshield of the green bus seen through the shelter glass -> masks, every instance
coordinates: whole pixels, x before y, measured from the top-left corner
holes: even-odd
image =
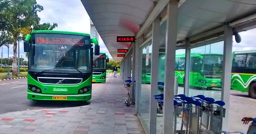
[[[222,75],[222,55],[203,55],[200,73],[204,75]]]

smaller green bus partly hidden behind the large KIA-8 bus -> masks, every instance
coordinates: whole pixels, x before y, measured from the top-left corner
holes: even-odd
[[[92,61],[92,82],[106,82],[106,63],[108,56],[105,53],[93,56]]]

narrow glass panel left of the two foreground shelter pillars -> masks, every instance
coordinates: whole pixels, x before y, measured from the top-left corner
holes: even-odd
[[[147,42],[140,48],[140,65],[141,65],[141,85],[139,86],[139,103],[138,116],[147,131],[149,132],[149,103],[150,103],[150,89],[151,89],[151,41]]]

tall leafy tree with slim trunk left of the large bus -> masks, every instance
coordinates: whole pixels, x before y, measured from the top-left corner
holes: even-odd
[[[12,75],[17,75],[17,41],[21,39],[22,28],[31,27],[39,23],[40,18],[37,12],[43,7],[36,3],[36,0],[2,0],[9,1],[5,6],[8,8],[3,11],[2,16],[6,19],[6,28],[9,37],[13,42],[13,71]]]

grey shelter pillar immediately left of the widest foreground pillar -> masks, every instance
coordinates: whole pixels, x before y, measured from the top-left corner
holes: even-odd
[[[158,56],[159,56],[159,32],[160,17],[153,21],[152,29],[152,54],[151,54],[151,90],[150,90],[150,109],[149,109],[149,134],[156,134],[156,100],[153,98],[157,94],[158,82]]]

